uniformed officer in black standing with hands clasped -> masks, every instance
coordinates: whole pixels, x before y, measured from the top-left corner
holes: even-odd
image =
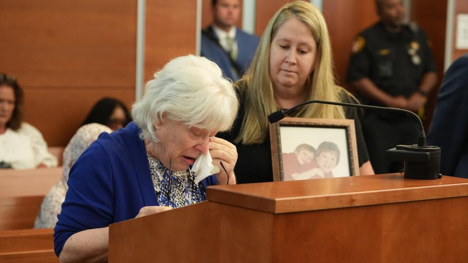
[[[424,31],[404,24],[402,0],[376,0],[380,21],[361,32],[352,44],[347,81],[363,104],[406,109],[423,108],[437,75]],[[385,150],[416,144],[418,125],[409,116],[366,111],[363,132],[376,173],[398,172],[401,162],[385,160]]]

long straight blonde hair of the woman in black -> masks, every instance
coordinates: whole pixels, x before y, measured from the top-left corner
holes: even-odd
[[[279,109],[273,95],[270,79],[270,46],[278,29],[289,19],[298,19],[305,23],[317,42],[317,60],[305,85],[310,86],[307,100],[342,101],[343,88],[335,85],[331,56],[330,38],[327,24],[322,13],[311,3],[294,1],[282,6],[268,22],[257,51],[242,79],[236,82],[236,88],[245,96],[245,116],[236,143],[263,143],[268,136],[267,115]],[[312,80],[312,81],[311,81]],[[346,92],[346,91],[345,91]],[[324,104],[310,104],[302,107],[295,117],[344,119],[342,107]]]

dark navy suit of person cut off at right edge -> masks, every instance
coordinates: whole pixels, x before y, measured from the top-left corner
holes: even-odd
[[[455,60],[444,75],[428,143],[441,148],[443,175],[468,178],[468,54]]]

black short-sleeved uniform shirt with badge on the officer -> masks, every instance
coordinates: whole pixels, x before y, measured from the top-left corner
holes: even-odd
[[[347,81],[368,77],[391,96],[409,97],[419,88],[423,76],[435,70],[424,31],[411,24],[399,33],[390,33],[378,22],[354,40]],[[382,106],[364,99],[364,104]]]

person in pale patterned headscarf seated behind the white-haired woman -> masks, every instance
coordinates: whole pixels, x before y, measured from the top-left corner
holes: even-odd
[[[111,128],[98,124],[90,123],[81,126],[73,135],[67,147],[63,151],[63,177],[52,187],[42,200],[39,208],[39,214],[34,223],[34,228],[54,228],[57,223],[57,215],[65,200],[65,194],[68,190],[68,173],[78,157],[88,146],[91,145],[102,132],[111,133]]]

